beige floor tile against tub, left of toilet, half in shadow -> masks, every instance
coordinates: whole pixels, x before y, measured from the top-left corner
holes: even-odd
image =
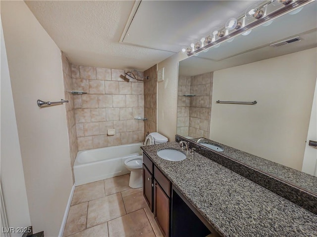
[[[105,191],[106,196],[115,194],[124,190],[131,189],[129,187],[129,174],[116,176],[110,179],[105,179]]]

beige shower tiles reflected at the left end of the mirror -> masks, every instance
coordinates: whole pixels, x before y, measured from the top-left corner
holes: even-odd
[[[177,134],[185,137],[209,138],[212,79],[212,72],[197,76],[179,76]]]

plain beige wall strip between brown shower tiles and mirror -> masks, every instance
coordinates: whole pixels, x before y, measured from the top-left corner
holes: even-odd
[[[158,82],[158,132],[175,141],[177,124],[178,62],[187,58],[178,52],[158,64],[164,68],[164,80]]]

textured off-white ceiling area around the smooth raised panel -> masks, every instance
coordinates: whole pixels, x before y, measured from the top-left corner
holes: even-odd
[[[119,43],[135,1],[25,1],[73,64],[144,71],[173,53]]]

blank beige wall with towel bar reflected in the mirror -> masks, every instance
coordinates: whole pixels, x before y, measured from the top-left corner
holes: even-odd
[[[316,57],[312,48],[214,72],[210,138],[301,170]],[[216,104],[216,100],[258,104]]]

